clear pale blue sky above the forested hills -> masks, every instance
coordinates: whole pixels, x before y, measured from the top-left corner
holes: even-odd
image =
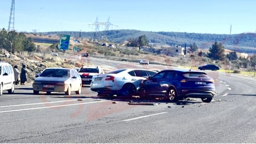
[[[0,0],[0,28],[8,27],[11,0]],[[256,31],[255,0],[15,0],[15,29],[31,32],[113,29],[232,34]]]

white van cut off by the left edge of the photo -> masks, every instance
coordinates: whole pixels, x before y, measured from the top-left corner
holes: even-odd
[[[14,72],[12,65],[8,62],[0,61],[0,95],[4,90],[8,90],[8,94],[14,93]]]

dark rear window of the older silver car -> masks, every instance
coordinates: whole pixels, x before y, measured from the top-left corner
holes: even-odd
[[[40,74],[44,77],[60,77],[60,78],[69,78],[70,70],[61,70],[61,69],[47,69]]]

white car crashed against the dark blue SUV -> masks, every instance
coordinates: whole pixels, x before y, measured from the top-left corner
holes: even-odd
[[[117,95],[131,97],[139,94],[140,83],[157,72],[144,69],[120,69],[92,77],[91,90],[98,96]]]

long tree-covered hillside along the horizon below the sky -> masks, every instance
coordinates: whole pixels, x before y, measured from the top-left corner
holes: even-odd
[[[68,34],[73,37],[78,37],[79,32],[44,32],[47,35]],[[188,45],[195,42],[200,48],[209,48],[212,42],[222,42],[224,46],[230,50],[238,52],[256,52],[256,34],[198,34],[186,32],[146,32],[140,30],[110,30],[108,31],[108,41],[124,42],[129,38],[136,38],[141,35],[146,35],[149,42],[160,44],[178,44]],[[83,38],[99,39],[99,34],[96,32],[81,32]]]

